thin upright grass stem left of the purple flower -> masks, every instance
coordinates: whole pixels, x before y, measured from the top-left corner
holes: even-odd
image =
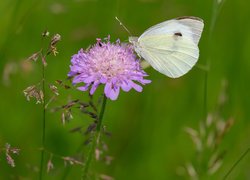
[[[42,119],[42,151],[40,161],[39,179],[43,179],[44,147],[45,147],[45,127],[46,127],[46,92],[45,92],[45,67],[42,64],[42,91],[43,91],[43,119]]]

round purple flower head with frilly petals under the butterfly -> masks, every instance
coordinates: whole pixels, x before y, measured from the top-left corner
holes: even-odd
[[[142,87],[135,81],[143,85],[151,82],[143,79],[147,74],[141,69],[132,47],[121,44],[119,40],[111,43],[109,37],[105,42],[97,39],[89,50],[81,49],[73,55],[68,76],[74,77],[73,84],[84,83],[78,89],[90,89],[90,94],[100,84],[105,84],[104,93],[111,100],[117,99],[120,89],[128,92],[133,88],[141,92]]]

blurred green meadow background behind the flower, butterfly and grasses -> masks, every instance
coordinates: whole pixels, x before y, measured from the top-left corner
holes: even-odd
[[[219,3],[219,0],[218,0]],[[202,179],[221,179],[250,147],[250,11],[247,0],[226,0],[216,15],[212,0],[2,0],[0,1],[0,146],[19,147],[16,167],[7,165],[0,151],[0,179],[38,179],[40,162],[42,109],[27,102],[23,90],[41,80],[41,63],[24,61],[41,48],[41,33],[59,33],[59,54],[48,57],[46,81],[65,79],[70,58],[80,48],[95,43],[97,37],[128,40],[127,32],[115,20],[118,16],[133,35],[148,27],[179,16],[204,19],[205,29],[199,44],[199,66],[210,62],[207,81],[207,110],[218,103],[222,81],[227,80],[228,100],[220,111],[227,120],[235,120],[221,143],[226,150],[223,165]],[[217,21],[212,31],[212,17]],[[210,32],[212,32],[210,34]],[[111,165],[93,163],[91,172],[114,179],[190,179],[180,176],[180,166],[195,161],[195,147],[184,127],[199,128],[204,117],[205,71],[193,68],[179,79],[170,79],[146,69],[150,85],[143,93],[135,91],[109,101],[104,124],[112,133],[104,138]],[[101,88],[100,88],[101,89]],[[86,93],[60,90],[59,99],[50,107],[72,99],[87,101]],[[99,90],[100,93],[100,90]],[[69,133],[78,125],[87,127],[86,115],[73,112],[65,126],[60,113],[47,113],[46,147],[61,156],[73,156],[84,137]],[[86,149],[86,147],[84,147]],[[86,151],[86,150],[85,150]],[[50,157],[46,154],[46,161]],[[228,179],[250,179],[250,155],[247,155]],[[63,179],[63,161],[53,158],[55,168],[45,179]],[[80,166],[72,166],[66,179],[79,179]]]

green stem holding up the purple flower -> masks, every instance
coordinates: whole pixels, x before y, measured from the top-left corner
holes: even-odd
[[[85,165],[83,166],[83,169],[82,169],[82,173],[83,173],[82,174],[82,180],[87,179],[89,166],[90,166],[94,151],[96,149],[96,146],[98,144],[98,141],[100,139],[101,127],[102,127],[102,119],[103,119],[103,115],[104,115],[104,111],[105,111],[105,107],[106,107],[106,102],[107,102],[107,97],[105,95],[103,95],[102,107],[101,107],[101,111],[100,111],[99,116],[98,116],[96,131],[95,131],[95,134],[94,134],[94,137],[93,137],[92,145],[91,145],[90,150],[89,150],[89,154],[87,156],[86,163],[85,163]]]

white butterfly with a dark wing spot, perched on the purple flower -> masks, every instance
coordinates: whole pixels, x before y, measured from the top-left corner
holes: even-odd
[[[155,70],[171,78],[186,74],[199,58],[198,42],[204,27],[197,17],[180,17],[129,37],[135,51]]]

